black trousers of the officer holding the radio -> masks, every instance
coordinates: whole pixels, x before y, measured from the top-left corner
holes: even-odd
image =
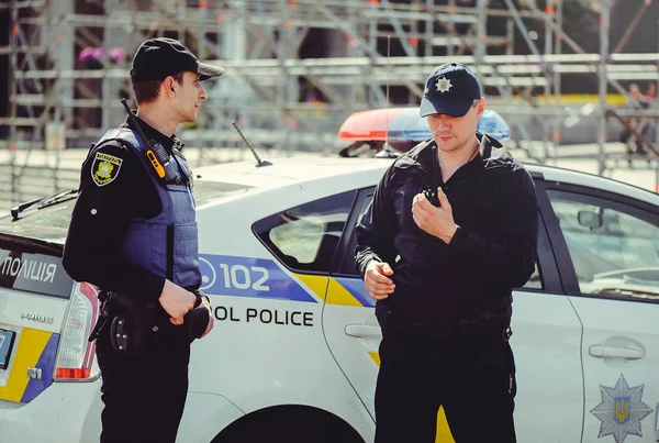
[[[388,328],[376,443],[434,443],[444,407],[456,443],[515,443],[513,353],[502,330],[428,339]]]

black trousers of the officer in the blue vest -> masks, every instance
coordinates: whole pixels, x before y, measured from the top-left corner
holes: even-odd
[[[188,392],[187,329],[164,324],[142,356],[114,351],[109,332],[104,328],[97,339],[101,443],[174,443]]]

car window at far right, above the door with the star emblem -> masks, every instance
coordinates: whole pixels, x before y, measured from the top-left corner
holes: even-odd
[[[659,217],[548,190],[582,294],[659,300]]]

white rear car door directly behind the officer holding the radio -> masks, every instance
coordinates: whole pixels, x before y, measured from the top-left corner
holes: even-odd
[[[375,302],[355,268],[355,224],[373,189],[361,190],[333,263],[323,312],[327,345],[375,420],[373,397],[379,369],[381,331]],[[539,193],[544,192],[541,187]],[[548,206],[546,198],[544,204]],[[583,385],[580,364],[581,326],[562,295],[561,283],[544,223],[539,228],[536,273],[515,291],[513,337],[517,362],[516,423],[520,441],[572,442],[581,436]],[[474,423],[478,410],[474,400]],[[440,409],[436,442],[454,442]]]

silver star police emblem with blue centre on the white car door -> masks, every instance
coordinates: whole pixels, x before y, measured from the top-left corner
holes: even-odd
[[[616,443],[623,443],[627,435],[643,436],[640,421],[652,412],[643,402],[644,385],[629,387],[621,374],[615,387],[600,385],[602,402],[591,413],[601,421],[599,439],[613,435]]]

